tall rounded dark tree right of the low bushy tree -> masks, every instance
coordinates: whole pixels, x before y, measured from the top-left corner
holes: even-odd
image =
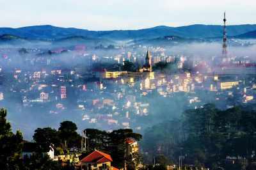
[[[77,126],[75,123],[72,121],[63,121],[60,123],[60,139],[63,142],[63,147],[66,149],[67,146],[72,146],[77,145],[76,141],[79,139],[79,134],[76,132]],[[81,139],[81,136],[80,136]],[[79,141],[80,143],[80,141]]]

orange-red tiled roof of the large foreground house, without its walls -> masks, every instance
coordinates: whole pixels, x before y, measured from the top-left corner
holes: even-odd
[[[110,155],[101,151],[95,150],[82,157],[80,162],[113,162]]]

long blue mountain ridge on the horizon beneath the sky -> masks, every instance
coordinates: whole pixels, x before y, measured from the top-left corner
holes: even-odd
[[[237,36],[256,30],[254,25],[227,26],[228,36]],[[163,36],[181,36],[186,38],[207,38],[222,36],[223,26],[191,25],[182,27],[157,26],[138,30],[89,31],[87,29],[63,28],[54,26],[29,26],[20,28],[1,27],[0,35],[15,35],[33,39],[54,40],[68,36],[85,36],[111,40],[140,40]]]

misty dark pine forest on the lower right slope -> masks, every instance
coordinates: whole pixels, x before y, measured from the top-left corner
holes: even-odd
[[[220,111],[205,104],[184,111],[179,120],[147,128],[141,145],[152,157],[163,154],[171,162],[179,162],[179,155],[186,155],[184,163],[197,167],[225,167],[223,160],[228,155],[239,155],[247,162],[239,160],[234,168],[245,169],[255,161],[255,116],[255,111],[244,111],[241,107]]]

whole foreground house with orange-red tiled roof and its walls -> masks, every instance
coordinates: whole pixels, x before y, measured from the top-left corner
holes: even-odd
[[[113,162],[110,155],[99,150],[93,150],[79,156],[82,170],[91,169],[111,169],[111,162]]]

